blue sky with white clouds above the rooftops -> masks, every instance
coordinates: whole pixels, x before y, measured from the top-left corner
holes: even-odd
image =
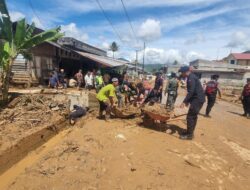
[[[42,29],[61,26],[65,36],[146,64],[218,60],[250,50],[250,0],[6,0],[13,21]],[[104,12],[102,12],[98,2]]]

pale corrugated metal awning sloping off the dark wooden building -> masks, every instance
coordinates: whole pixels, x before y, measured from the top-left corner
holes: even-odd
[[[94,54],[90,54],[90,53],[85,53],[85,52],[81,52],[81,51],[75,51],[75,52],[83,57],[86,57],[88,59],[96,61],[96,62],[98,62],[106,67],[120,67],[120,66],[126,65],[126,62],[121,61],[121,60],[112,59],[109,57],[104,57],[104,56],[99,56],[99,55],[94,55]]]

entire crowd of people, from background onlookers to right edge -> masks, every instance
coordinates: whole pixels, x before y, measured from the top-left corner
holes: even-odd
[[[186,118],[187,130],[185,134],[180,135],[180,138],[189,140],[194,136],[198,114],[205,103],[206,97],[207,107],[205,117],[208,118],[211,117],[210,113],[216,102],[217,95],[221,97],[218,83],[219,76],[212,75],[211,80],[202,85],[199,78],[192,72],[192,68],[189,66],[181,67],[179,73],[179,77],[176,73],[171,73],[166,84],[164,91],[165,95],[167,95],[166,109],[168,111],[174,109],[181,81],[180,78],[185,79],[187,95],[180,107],[189,107],[189,110]],[[88,90],[96,89],[97,99],[100,104],[99,118],[106,120],[110,119],[111,110],[115,106],[116,101],[117,106],[120,108],[128,104],[143,106],[147,103],[161,103],[164,89],[164,79],[161,73],[156,74],[153,87],[151,87],[146,78],[137,82],[130,81],[126,73],[123,74],[121,79],[112,78],[110,80],[109,75],[102,76],[99,71],[96,73],[87,72],[83,76],[82,70],[79,70],[75,74],[74,79],[68,81],[64,69],[61,69],[60,72],[52,72],[49,79],[49,86],[52,88],[67,88],[68,86],[77,86],[80,88],[83,84]],[[250,78],[247,79],[247,84],[244,86],[240,99],[244,109],[243,116],[250,118]]]

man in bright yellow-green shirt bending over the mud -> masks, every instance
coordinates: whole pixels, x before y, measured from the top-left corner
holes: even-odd
[[[105,117],[106,120],[110,118],[111,108],[114,106],[115,98],[115,88],[118,86],[119,82],[117,78],[112,79],[112,84],[104,86],[97,94],[96,98],[99,101],[99,118]],[[105,116],[103,112],[105,111]]]

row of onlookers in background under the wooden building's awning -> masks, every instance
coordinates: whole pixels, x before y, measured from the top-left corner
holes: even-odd
[[[50,73],[48,86],[50,88],[77,87],[78,89],[84,86],[88,90],[96,89],[99,91],[104,86],[104,80],[100,71],[88,71],[84,75],[81,69],[74,77],[67,79],[64,69],[60,69],[59,72],[55,70]]]

